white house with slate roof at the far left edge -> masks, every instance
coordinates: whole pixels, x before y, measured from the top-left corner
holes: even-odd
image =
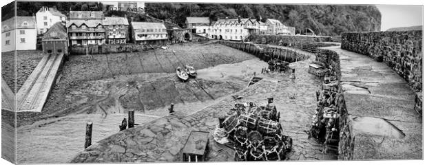
[[[36,20],[34,17],[13,17],[2,21],[1,36],[1,52],[15,50],[15,47],[16,50],[36,50]]]

